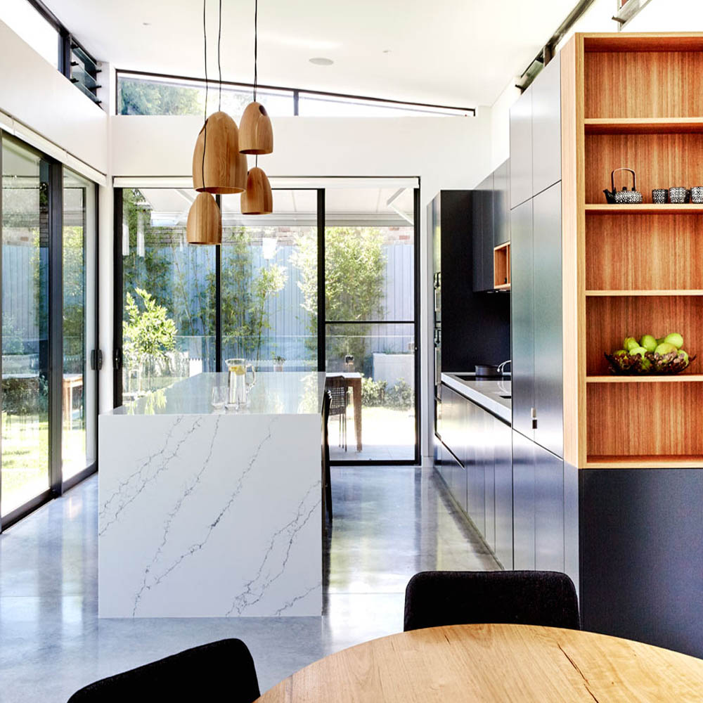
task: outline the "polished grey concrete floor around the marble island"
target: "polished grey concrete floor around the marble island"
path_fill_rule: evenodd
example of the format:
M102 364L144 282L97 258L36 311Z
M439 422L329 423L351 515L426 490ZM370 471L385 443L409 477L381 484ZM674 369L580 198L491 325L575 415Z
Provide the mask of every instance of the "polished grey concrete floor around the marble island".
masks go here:
M401 631L425 569L496 569L431 469L334 467L325 614L101 619L97 477L0 534L0 703L65 702L82 685L211 640L247 643L262 691L326 654Z

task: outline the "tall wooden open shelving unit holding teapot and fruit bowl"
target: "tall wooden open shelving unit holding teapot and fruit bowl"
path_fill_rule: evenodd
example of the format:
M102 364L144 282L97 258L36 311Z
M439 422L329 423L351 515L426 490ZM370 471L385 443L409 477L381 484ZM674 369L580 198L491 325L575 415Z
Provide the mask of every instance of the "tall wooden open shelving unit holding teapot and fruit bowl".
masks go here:
M618 167L642 205L605 202ZM702 35L577 34L562 51L562 222L565 459L579 468L703 467L703 205L652 203L653 188L697 185ZM698 355L683 373L610 375L603 353L624 337L674 331Z

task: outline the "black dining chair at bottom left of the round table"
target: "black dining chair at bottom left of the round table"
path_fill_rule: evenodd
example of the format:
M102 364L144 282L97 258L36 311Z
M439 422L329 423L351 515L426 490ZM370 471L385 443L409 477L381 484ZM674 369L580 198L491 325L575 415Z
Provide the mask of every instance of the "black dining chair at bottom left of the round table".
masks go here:
M193 647L157 662L103 678L75 692L68 703L216 701L252 703L259 693L254 660L242 640Z

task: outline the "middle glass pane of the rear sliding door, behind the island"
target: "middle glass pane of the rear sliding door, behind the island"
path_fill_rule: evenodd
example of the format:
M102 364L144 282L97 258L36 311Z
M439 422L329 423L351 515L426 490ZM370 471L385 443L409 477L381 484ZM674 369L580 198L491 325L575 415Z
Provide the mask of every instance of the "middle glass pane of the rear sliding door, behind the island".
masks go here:
M259 370L317 367L315 191L273 191L272 215L242 217L239 198L222 212L222 358Z

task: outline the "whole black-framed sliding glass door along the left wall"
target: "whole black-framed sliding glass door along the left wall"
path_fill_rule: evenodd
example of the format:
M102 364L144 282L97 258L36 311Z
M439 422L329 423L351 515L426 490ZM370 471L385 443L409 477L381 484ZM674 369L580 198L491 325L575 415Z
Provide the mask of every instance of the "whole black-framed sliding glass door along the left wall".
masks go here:
M96 464L96 186L0 134L0 526Z

